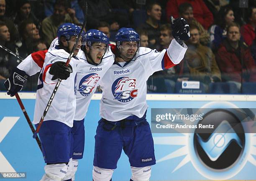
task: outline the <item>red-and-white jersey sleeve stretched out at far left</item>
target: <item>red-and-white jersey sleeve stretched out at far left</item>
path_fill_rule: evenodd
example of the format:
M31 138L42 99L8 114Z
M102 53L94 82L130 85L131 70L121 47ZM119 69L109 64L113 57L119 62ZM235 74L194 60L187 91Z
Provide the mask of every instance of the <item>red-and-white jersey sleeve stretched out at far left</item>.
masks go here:
M26 57L26 59L17 66L17 68L23 70L29 76L40 72L44 64L46 52L47 50L41 50L28 55L28 57Z

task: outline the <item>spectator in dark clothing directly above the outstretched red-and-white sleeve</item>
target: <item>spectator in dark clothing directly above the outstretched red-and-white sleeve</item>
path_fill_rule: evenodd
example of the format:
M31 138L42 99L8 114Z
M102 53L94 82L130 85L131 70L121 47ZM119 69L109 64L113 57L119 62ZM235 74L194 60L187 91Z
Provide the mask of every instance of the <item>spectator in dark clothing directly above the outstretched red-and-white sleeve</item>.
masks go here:
M24 20L19 27L20 36L22 40L22 46L19 48L19 54L21 57L27 57L34 50L40 41L39 31L36 25L31 20Z

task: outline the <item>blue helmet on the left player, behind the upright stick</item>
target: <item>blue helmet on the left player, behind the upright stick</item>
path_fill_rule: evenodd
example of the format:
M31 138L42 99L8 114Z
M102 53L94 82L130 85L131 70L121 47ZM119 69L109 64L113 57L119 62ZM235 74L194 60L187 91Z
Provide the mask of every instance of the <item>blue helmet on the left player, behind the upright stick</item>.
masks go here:
M73 23L64 23L58 27L57 37L59 38L59 41L61 36L70 40L70 37L78 36L81 29L81 27L74 25ZM84 32L82 33L82 36L84 36Z

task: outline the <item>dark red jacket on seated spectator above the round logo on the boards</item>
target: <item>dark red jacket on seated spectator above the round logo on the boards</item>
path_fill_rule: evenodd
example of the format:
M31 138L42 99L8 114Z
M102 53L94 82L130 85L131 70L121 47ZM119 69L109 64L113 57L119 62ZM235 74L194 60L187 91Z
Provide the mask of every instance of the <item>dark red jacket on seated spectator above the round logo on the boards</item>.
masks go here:
M235 50L229 45L227 40L223 41L215 55L223 81L241 82L242 64L240 52L244 52L243 81L256 82L256 66L250 49L243 44L239 46L237 50Z

